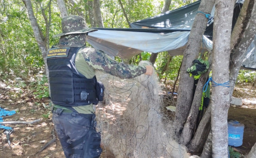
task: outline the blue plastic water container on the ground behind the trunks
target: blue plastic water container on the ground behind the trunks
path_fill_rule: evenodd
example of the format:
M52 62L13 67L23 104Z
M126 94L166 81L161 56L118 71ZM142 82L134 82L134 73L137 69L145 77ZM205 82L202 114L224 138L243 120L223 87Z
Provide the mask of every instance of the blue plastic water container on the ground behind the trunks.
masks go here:
M239 147L243 144L244 124L232 120L227 122L228 145Z

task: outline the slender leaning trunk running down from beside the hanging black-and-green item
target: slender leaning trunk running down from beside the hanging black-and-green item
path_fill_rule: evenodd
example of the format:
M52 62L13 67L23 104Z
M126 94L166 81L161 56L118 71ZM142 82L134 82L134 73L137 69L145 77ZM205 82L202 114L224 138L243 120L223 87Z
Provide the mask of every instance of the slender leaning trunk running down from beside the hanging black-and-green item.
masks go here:
M201 105L201 100L202 100L202 95L203 95L203 86L209 76L209 73L211 71L211 65L212 65L212 53L210 54L209 57L209 63L210 67L208 71L204 74L201 75L201 77L198 80L198 84L196 87L195 95L193 97L193 102L191 105L191 109L189 111L188 119L184 125L184 129L181 134L181 143L186 145L188 142L191 140L193 130L197 121L197 116L198 116L198 109L199 106Z

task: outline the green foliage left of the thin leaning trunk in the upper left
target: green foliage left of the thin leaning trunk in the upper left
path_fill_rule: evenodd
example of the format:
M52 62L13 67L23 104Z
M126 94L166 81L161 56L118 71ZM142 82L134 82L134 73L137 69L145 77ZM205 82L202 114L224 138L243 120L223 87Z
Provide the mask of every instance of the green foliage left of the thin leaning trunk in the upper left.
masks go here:
M3 0L0 10L0 74L24 77L42 67L43 58L34 39L27 11L20 1Z

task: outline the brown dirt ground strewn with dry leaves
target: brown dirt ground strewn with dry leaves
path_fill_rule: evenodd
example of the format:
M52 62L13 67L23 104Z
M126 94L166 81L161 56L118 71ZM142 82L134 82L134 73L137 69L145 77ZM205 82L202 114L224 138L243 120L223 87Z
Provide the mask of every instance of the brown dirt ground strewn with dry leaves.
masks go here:
M10 96L12 94L12 96ZM16 95L16 99L13 96ZM19 97L17 97L19 96ZM231 106L228 118L245 124L243 144L235 148L243 155L247 154L256 143L256 88L250 84L238 85L234 96L243 99L242 107ZM4 121L33 121L42 118L34 124L6 124L14 132L10 135L10 146L4 129L0 129L0 158L65 158L58 141L40 150L50 142L54 136L51 113L47 100L34 99L32 92L24 91L20 94L19 88L6 86L0 82L0 107L6 110L18 110L14 115L4 116ZM101 158L113 158L106 151Z

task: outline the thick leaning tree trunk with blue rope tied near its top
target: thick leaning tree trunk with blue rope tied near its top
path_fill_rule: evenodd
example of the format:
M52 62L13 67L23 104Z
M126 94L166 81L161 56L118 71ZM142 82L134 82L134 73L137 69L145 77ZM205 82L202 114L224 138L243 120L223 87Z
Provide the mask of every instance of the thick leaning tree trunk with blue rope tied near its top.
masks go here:
M202 0L198 11L210 13L215 0ZM188 38L187 47L184 52L183 62L181 66L181 74L179 78L179 91L176 103L176 113L174 125L177 128L175 133L177 136L181 134L183 125L188 118L188 113L191 107L193 98L193 77L189 77L187 68L192 66L192 61L198 57L200 46L202 43L203 33L206 29L208 19L204 14L196 15L190 35Z

